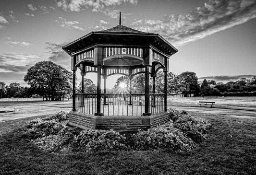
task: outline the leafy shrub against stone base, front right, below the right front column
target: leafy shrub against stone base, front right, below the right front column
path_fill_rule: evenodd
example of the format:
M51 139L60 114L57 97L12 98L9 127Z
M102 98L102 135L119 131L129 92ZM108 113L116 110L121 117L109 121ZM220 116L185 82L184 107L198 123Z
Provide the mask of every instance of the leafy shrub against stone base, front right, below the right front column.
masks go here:
M139 131L131 139L134 150L188 151L193 146L193 141L174 128L171 122L147 131Z

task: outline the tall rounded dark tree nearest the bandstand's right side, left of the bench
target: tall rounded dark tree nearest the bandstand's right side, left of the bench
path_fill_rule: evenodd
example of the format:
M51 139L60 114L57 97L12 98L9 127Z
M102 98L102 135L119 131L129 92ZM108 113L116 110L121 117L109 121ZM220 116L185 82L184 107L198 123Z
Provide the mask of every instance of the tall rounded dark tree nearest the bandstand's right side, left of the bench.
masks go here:
M195 76L195 72L186 71L177 76L179 88L185 96L191 96L192 93L194 93L194 95L199 94L200 86L197 80L198 78Z

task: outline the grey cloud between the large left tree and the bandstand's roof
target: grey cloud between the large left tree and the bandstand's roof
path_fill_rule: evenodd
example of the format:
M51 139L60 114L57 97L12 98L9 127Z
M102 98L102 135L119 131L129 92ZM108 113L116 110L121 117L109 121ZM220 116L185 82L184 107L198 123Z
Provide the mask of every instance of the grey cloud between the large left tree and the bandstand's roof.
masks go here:
M55 62L62 67L66 68L67 70L70 70L71 67L71 58L70 56L62 49L62 46L64 46L67 43L50 43L46 42L46 50L47 53L50 54L49 61Z

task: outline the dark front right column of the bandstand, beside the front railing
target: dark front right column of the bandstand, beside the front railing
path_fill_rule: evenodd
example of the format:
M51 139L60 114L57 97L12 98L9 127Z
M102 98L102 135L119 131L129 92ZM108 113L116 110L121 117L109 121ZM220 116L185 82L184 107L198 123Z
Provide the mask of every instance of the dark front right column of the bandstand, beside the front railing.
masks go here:
M151 116L149 113L149 66L145 66L145 113L143 116Z

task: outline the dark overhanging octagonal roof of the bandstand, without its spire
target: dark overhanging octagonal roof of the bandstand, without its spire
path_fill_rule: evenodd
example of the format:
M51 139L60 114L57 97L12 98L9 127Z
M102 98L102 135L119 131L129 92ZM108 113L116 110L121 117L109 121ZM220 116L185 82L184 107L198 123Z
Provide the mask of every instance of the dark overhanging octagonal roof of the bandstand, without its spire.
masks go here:
M123 25L117 25L107 30L90 32L62 48L69 55L73 55L87 47L93 47L97 44L126 45L131 47L151 45L169 57L178 51L159 34L146 33Z

